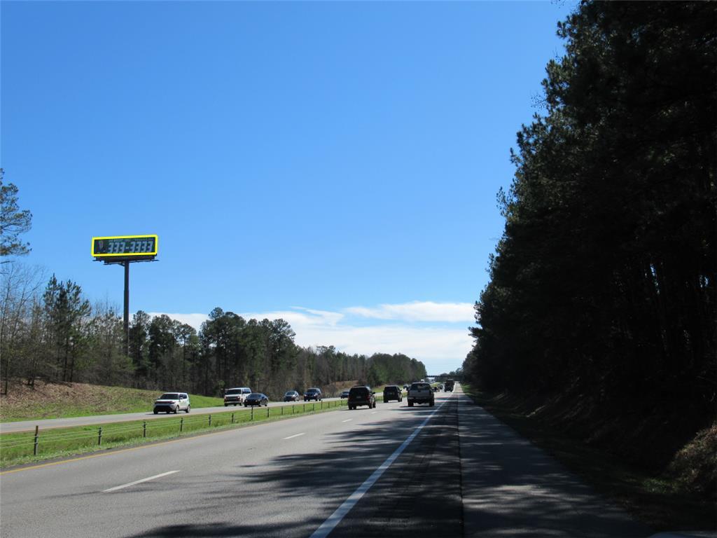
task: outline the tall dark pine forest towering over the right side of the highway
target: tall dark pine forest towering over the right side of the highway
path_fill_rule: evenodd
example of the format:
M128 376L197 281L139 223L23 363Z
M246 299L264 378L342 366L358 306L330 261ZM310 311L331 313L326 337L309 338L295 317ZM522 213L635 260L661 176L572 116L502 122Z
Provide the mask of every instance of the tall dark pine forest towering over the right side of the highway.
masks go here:
M594 435L715 420L716 32L714 2L587 1L559 24L475 305L484 390L561 395Z

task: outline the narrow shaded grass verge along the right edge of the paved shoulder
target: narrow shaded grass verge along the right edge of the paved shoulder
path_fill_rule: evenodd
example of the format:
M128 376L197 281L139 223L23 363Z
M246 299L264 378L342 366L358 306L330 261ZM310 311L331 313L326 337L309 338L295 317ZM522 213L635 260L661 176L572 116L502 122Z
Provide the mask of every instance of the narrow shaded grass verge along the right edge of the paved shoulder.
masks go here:
M655 532L715 528L715 506L707 499L678 491L674 481L668 478L655 476L529 417L518 409L516 402L500 400L465 383L461 387L491 415L551 454L600 494L630 511Z

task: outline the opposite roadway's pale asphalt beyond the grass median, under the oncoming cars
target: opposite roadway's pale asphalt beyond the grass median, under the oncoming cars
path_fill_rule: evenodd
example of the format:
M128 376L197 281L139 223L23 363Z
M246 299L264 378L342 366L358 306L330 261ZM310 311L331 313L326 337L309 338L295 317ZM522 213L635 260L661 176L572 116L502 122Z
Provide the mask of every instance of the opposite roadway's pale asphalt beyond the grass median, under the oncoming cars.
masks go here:
M324 398L324 402L333 402L341 400L341 398ZM313 402L313 400L312 400ZM278 405L301 405L304 402L269 402L269 407L276 407ZM307 404L311 402L305 402ZM318 402L317 402L318 405ZM231 410L244 409L242 405L229 405L224 407L200 407L199 409L191 408L191 415L207 415L209 413L218 413ZM170 414L171 415L171 414ZM179 415L184 415L183 411L179 412ZM107 424L107 423L121 423L129 422L130 420L153 420L156 418L163 418L168 416L167 413L161 412L155 415L150 409L148 411L138 413L118 413L116 415L94 415L90 417L71 417L71 418L48 418L44 420L23 420L15 423L0 423L0 433L16 433L16 432L29 432L34 431L35 426L39 426L40 430L50 430L53 428L70 428L71 426L88 426L92 424Z

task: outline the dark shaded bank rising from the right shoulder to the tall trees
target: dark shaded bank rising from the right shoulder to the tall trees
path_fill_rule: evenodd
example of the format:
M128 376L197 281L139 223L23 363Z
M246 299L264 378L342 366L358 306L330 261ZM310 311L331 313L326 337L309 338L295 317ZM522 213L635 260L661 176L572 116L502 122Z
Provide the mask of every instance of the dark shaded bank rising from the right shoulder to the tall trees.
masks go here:
M717 425L625 402L597 412L578 398L463 390L653 529L716 528Z

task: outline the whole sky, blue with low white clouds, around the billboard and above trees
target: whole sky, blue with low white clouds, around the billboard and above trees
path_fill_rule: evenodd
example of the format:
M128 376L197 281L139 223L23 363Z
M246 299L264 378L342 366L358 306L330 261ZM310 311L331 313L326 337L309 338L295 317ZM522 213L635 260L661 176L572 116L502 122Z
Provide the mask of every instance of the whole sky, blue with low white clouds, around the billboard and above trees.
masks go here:
M459 367L572 7L3 1L23 263L121 306L90 238L156 233L132 311L282 316L299 344Z

